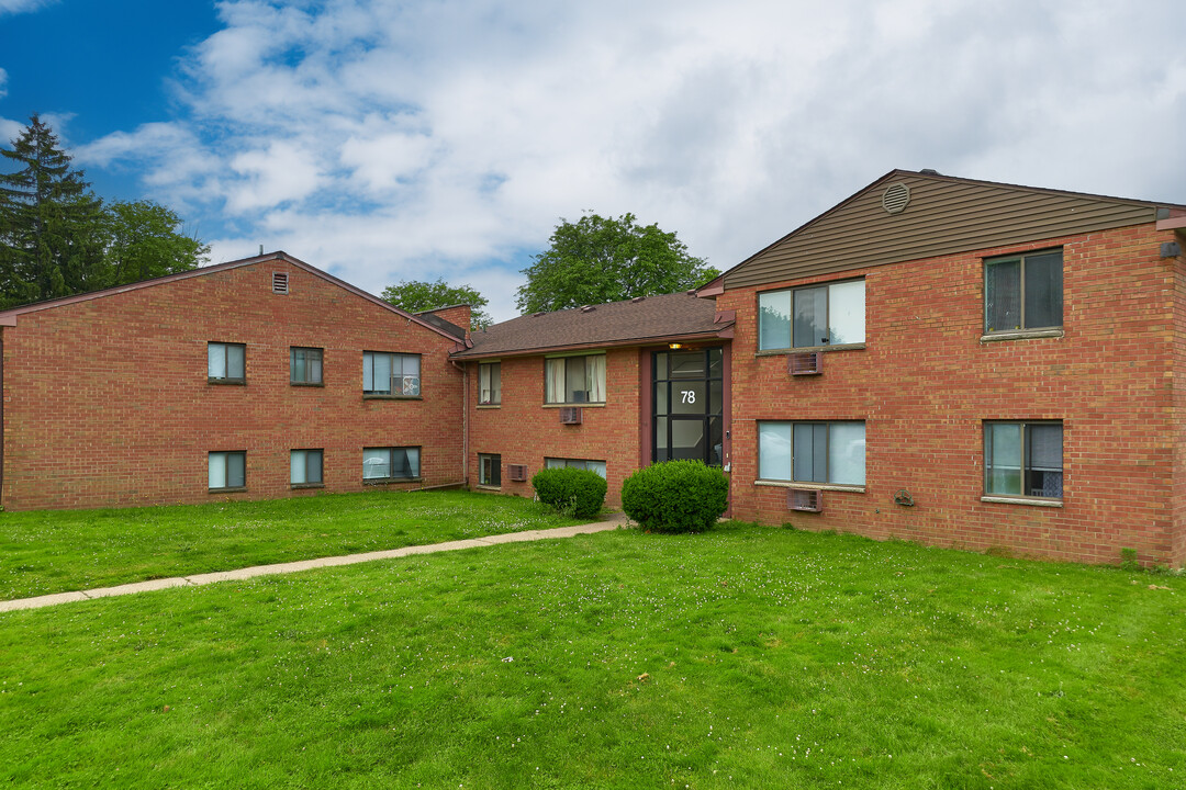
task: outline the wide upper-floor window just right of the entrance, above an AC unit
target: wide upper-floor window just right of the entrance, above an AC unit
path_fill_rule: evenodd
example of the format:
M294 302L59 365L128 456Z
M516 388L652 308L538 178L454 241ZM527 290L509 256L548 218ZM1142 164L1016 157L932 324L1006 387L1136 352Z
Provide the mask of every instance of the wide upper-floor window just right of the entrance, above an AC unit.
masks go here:
M758 348L865 342L865 281L758 294Z

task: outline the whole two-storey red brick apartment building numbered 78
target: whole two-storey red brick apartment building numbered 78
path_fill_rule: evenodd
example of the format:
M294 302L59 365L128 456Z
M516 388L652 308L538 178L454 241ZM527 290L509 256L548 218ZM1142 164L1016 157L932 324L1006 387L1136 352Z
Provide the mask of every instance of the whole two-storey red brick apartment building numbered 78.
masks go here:
M695 294L468 335L283 253L0 313L0 505L721 464L732 514L1186 561L1186 207L893 171Z

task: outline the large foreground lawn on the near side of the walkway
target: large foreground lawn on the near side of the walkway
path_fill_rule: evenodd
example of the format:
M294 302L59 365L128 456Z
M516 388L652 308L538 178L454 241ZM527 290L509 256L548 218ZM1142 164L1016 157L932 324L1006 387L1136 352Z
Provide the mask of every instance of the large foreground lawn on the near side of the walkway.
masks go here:
M731 522L12 612L0 785L1180 788L1180 584Z

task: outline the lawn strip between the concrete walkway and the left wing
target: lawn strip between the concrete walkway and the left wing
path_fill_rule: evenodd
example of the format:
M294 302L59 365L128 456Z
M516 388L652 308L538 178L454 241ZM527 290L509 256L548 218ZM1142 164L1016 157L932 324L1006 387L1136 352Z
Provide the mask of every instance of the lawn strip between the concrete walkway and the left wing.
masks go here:
M0 599L581 521L530 500L468 492L0 513Z

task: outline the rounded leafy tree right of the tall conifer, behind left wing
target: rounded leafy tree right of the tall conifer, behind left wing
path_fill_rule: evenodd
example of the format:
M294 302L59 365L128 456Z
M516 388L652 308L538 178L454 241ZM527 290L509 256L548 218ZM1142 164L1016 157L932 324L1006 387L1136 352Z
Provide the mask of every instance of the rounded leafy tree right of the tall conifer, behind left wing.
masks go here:
M107 206L107 249L111 285L196 269L210 245L178 231L181 219L152 200Z

